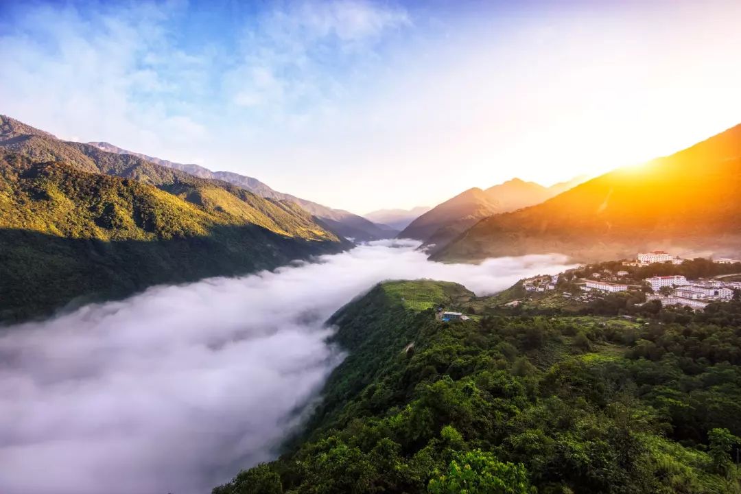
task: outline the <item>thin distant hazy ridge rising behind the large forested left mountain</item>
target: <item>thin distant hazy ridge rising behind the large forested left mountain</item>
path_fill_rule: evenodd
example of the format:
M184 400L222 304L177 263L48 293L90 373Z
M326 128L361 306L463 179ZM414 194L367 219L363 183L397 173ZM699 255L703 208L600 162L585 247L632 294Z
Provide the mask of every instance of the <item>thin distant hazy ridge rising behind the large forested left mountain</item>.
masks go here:
M350 213L349 211L335 210L330 207L322 206L322 204L317 204L313 201L307 201L306 199L291 196L290 194L280 193L268 187L267 184L262 183L257 178L239 175L239 173L212 172L211 170L208 170L207 168L201 167L197 164L176 163L174 161L155 158L153 156L147 156L141 153L134 153L133 151L124 150L107 142L89 142L87 144L95 146L109 153L138 156L139 158L143 158L147 161L160 164L164 167L182 170L197 177L227 181L230 184L245 188L253 193L256 193L258 196L262 196L265 198L295 202L296 204L299 204L299 206L307 210L309 213L313 214L313 216L316 216L319 221L322 221L322 223L324 223L327 227L329 227L337 234L346 238L353 238L355 241L370 241L379 240L381 238L393 238L393 236L396 236L396 234L399 233L400 230L393 230L385 227L384 225L374 224L372 221L368 221L362 216Z

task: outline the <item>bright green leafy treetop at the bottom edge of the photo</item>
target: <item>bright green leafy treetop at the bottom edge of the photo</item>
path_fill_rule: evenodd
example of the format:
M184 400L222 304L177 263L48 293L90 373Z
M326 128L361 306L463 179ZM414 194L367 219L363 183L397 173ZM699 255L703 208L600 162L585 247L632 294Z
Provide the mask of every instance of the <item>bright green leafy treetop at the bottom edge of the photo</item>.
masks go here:
M523 464L502 463L482 450L458 453L448 473L436 472L428 484L431 494L528 494L528 471Z

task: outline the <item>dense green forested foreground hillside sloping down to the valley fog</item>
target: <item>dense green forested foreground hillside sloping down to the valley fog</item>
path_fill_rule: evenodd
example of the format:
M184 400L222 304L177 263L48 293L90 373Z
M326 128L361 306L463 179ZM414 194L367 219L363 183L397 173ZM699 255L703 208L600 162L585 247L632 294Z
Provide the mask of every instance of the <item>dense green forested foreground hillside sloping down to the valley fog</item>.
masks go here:
M416 290L472 295L391 282L340 310L349 356L306 432L215 494L741 492L738 302L443 323Z

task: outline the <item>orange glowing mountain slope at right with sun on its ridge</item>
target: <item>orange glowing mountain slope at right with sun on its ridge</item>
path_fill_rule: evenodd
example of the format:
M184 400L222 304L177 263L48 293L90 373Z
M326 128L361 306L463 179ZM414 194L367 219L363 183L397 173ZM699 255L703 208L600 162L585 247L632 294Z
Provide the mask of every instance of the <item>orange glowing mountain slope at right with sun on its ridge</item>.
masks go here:
M672 156L594 178L542 204L480 221L441 261L563 253L579 261L660 248L741 253L741 125Z

